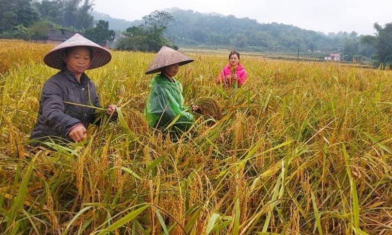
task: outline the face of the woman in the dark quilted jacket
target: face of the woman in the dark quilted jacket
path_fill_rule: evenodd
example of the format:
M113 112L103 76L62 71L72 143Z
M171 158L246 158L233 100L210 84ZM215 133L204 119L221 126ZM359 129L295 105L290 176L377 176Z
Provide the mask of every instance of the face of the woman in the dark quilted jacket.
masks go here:
M73 74L81 74L91 62L91 52L88 47L77 46L72 48L72 50L65 57L65 63L68 70Z

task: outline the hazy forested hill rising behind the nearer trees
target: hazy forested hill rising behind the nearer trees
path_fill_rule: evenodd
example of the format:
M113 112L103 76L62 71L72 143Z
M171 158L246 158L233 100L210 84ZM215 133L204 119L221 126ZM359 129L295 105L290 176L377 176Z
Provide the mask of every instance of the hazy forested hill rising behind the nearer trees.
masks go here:
M174 20L165 32L170 41L177 45L199 45L209 47L232 46L251 50L311 50L340 51L346 38L358 40L356 32L331 32L328 34L306 30L282 23L259 23L255 19L224 16L217 13L200 13L178 8L165 9ZM125 31L126 27L137 26L141 20L120 21L106 15L94 14L95 19L109 22L111 29ZM120 25L120 26L119 26ZM127 26L126 26L127 25Z

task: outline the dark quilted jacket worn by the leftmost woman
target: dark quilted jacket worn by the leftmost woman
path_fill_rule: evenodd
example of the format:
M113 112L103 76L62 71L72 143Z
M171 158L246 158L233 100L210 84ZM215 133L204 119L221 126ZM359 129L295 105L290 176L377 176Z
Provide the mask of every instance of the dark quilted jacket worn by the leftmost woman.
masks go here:
M30 139L45 141L50 136L70 141L70 128L82 123L86 128L94 121L94 109L69 103L101 107L95 84L85 73L80 78L64 69L50 77L43 85L37 122ZM32 145L38 145L33 143Z

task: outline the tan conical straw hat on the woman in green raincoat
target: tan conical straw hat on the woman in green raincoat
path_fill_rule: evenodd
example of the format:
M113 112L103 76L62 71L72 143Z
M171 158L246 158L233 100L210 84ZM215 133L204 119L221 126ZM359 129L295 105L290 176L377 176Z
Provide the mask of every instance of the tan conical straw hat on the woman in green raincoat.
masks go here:
M162 46L155 56L154 60L148 65L147 72L145 74L151 74L161 71L161 68L168 65L176 64L184 65L192 62L193 59L178 52L170 47Z

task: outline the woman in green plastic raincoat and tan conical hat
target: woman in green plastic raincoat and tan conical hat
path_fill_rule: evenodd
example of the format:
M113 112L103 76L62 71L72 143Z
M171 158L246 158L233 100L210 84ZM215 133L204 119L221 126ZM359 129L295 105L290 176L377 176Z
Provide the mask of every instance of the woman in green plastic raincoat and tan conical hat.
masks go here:
M145 74L158 73L151 79L151 91L144 108L144 115L150 127L181 133L194 123L194 117L189 111L195 112L198 107L184 106L182 85L175 78L179 67L192 61L193 59L185 54L162 46L149 64Z

